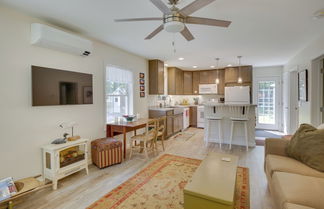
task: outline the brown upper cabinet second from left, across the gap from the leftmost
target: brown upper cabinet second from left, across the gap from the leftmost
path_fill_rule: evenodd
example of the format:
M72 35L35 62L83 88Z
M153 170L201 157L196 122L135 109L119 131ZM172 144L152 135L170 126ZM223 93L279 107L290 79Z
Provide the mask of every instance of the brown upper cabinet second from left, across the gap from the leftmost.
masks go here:
M183 71L176 67L168 68L168 94L183 95Z

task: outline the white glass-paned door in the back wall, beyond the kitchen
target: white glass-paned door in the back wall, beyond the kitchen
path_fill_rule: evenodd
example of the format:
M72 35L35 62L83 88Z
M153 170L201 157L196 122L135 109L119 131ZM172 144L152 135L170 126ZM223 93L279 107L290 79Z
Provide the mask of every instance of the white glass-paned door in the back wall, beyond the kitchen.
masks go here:
M257 128L279 130L280 77L259 77L257 83Z

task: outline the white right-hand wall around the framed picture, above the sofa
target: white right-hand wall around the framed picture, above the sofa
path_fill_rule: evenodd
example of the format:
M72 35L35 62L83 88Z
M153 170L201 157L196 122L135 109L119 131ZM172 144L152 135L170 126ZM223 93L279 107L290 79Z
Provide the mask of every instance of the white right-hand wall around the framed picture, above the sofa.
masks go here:
M324 55L324 34L312 41L303 50L298 52L285 65L284 71L297 69L301 71L309 70L309 102L300 103L299 106L299 123L312 123L318 125L319 120L319 103L320 103L320 73L319 69L312 65L313 60ZM292 86L291 88L297 88Z

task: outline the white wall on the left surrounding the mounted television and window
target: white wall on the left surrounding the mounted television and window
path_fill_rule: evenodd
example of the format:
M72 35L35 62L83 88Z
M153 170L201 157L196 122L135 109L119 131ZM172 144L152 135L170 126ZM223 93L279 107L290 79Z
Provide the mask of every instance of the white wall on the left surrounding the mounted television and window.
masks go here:
M33 22L42 23L0 7L0 179L40 174L41 146L62 136L61 122L76 121L75 133L84 138L105 136L105 64L134 72L134 111L148 114L147 98L139 98L137 85L138 73L147 72L147 60L97 41L89 57L31 46ZM93 74L94 104L32 107L31 65Z

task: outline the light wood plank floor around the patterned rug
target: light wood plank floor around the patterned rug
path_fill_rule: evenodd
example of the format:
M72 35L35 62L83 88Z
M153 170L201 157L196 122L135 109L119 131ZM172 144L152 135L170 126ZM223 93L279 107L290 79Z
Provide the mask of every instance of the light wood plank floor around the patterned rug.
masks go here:
M29 196L15 208L86 208L164 153L203 159L208 152L226 152L239 156L239 165L250 168L251 209L275 209L263 172L264 147L257 146L248 152L244 147L235 146L232 151L227 146L220 150L217 144L204 146L202 129L189 128L186 132L194 135L188 140L180 137L167 140L166 151L155 155L150 153L150 160L145 160L142 155L134 155L131 160L105 169L91 165L88 176L84 171L71 175L59 181L56 191L51 188L42 190Z

